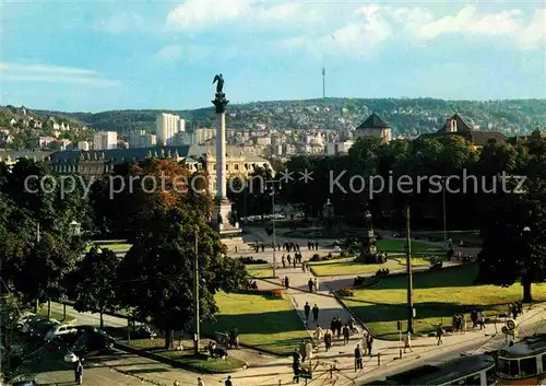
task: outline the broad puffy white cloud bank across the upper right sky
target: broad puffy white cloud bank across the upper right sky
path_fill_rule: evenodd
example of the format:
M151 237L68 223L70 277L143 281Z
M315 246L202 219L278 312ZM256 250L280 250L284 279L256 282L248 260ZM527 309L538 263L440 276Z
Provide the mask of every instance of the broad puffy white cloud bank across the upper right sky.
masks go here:
M464 5L451 14L440 13L441 10L444 8L373 3L363 7L352 2L190 0L167 15L167 27L193 37L213 28L244 36L250 31L247 40L261 44L234 40L232 48L241 55L260 47L258 50L262 52L270 48L365 57L375 55L389 40L423 46L448 34L520 49L539 48L546 42L546 10L536 11L534 16L520 9L478 12L474 5ZM274 34L257 37L260 32L278 32L284 37Z

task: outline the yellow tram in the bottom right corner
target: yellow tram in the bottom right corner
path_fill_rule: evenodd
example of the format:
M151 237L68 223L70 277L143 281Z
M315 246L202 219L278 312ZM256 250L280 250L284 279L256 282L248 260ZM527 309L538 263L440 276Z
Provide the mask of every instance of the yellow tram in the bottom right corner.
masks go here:
M546 335L526 337L499 351L499 385L546 385Z

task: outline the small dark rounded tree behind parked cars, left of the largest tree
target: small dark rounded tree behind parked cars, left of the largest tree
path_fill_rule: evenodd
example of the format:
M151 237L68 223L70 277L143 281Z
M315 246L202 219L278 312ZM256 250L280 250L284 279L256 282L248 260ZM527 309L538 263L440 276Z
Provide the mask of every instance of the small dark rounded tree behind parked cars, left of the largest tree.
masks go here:
M74 309L99 313L100 328L104 327L104 313L115 311L118 306L115 290L119 262L120 259L110 249L92 248L78 262L71 276L74 283Z

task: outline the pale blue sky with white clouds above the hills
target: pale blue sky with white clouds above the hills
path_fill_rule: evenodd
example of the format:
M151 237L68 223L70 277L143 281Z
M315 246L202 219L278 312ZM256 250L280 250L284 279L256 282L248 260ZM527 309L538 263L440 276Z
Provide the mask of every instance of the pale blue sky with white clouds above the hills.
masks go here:
M544 1L0 0L1 105L546 97Z

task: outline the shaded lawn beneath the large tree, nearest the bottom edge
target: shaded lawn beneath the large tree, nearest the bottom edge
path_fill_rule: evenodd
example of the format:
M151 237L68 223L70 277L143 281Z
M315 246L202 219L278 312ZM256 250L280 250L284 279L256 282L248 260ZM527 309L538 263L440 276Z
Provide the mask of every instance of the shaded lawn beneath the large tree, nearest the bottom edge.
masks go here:
M177 341L178 342L178 341ZM209 358L206 348L201 348L201 354L195 356L191 349L192 342L185 340L182 346L183 351L165 350L164 339L135 339L130 342L123 341L123 344L131 346L136 349L153 352L156 355L176 360L180 366L195 373L230 373L246 365L241 360L228 356L225 361L222 359Z

